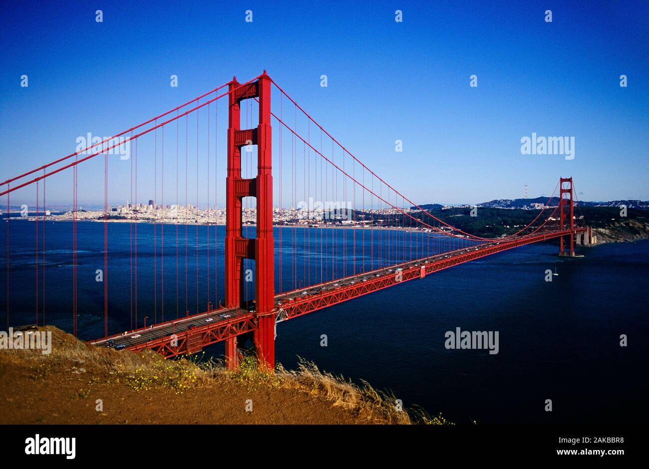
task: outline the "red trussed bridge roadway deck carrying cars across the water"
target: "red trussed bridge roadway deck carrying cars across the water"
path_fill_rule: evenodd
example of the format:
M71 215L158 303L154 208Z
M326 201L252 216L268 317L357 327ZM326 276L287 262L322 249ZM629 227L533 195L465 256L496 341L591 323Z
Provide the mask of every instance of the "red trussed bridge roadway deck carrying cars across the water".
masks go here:
M578 228L574 230L574 233L584 232L585 230L586 228ZM397 285L397 283L423 278L426 274L441 271L467 261L569 234L570 230L537 232L511 241L482 243L280 293L275 295L275 310L273 313L276 315L277 322L292 319L327 306ZM89 343L95 346L115 346L118 350L127 348L138 351L149 348L165 357L171 357L196 352L201 350L203 346L241 335L255 328L256 316L254 311L221 307L212 309L212 311L153 324L147 328L125 331L121 334L89 341Z

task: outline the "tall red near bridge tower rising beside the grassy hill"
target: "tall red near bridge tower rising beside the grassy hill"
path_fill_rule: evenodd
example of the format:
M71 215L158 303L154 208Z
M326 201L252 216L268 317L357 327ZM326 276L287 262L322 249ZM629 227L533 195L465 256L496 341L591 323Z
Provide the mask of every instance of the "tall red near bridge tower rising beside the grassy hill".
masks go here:
M254 344L260 365L275 368L275 258L273 241L273 176L271 140L271 80L263 71L258 80L239 86L236 77L228 83L228 142L225 226L225 306L243 307L243 259L254 259L257 328ZM239 87L239 88L238 88ZM259 123L241 130L241 101L257 98ZM257 176L241 178L241 147L257 145ZM241 206L243 197L256 197L257 226L254 239L243 237ZM237 339L227 339L228 368L238 366Z

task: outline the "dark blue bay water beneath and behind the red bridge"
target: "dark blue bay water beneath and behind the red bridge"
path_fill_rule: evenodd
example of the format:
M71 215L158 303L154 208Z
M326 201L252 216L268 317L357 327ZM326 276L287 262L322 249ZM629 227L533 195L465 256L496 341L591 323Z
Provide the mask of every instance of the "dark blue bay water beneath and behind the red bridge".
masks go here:
M103 336L104 285L95 282L95 271L104 267L104 226L95 222L79 222L77 226L79 337L92 339ZM5 226L1 228L0 308L4 316L6 230ZM132 228L120 223L110 223L108 228L109 332L115 333L131 329L135 322L130 263ZM139 326L145 315L149 323L156 317L162 320L163 304L165 320L183 315L186 304L194 313L197 285L199 309L204 310L207 278L210 300L223 300L223 227L210 227L209 242L207 227L199 226L198 235L195 226L187 227L188 291L184 288L185 228L178 226L177 291L177 227L164 227L163 301L162 227L155 228L156 285L154 226L138 224ZM71 223L47 222L45 230L45 320L71 331ZM276 241L280 231L282 290L304 281L304 265L308 265L313 282L330 278L332 272L339 277L343 269L345 274L352 269L358 271L363 262L358 248L355 253L350 250L352 230L328 230L322 248L319 240L324 237L320 235L316 241L315 230L276 228ZM410 246L415 248L415 255L421 250L444 250L447 246L443 243L448 243L422 234L379 235L376 230L371 234L369 231L365 230L367 268L410 256ZM251 230L247 235L252 233ZM356 244L360 245L358 232L356 236ZM387 239L398 249L387 252ZM12 325L35 320L34 242L32 222L11 222ZM333 250L332 245L336 245ZM347 247L344 253L343 245ZM431 414L441 412L458 423L645 421L649 414L649 241L582 248L580 253L585 257L575 259L559 258L556 251L552 243L520 247L283 322L277 326L276 359L292 368L299 355L323 370L354 381L365 379L377 389L389 389L408 407L421 405ZM352 254L356 254L355 263ZM380 259L373 266L369 264L371 254ZM298 259L295 264L293 258ZM324 263L317 262L320 258L325 259ZM277 273L278 267L277 261ZM552 282L545 282L546 269L556 269L559 275L553 276ZM42 321L42 293L39 295ZM1 319L4 328L5 318ZM498 331L499 353L447 350L445 332L458 327L467 331ZM328 339L326 347L321 346L323 334ZM628 335L628 347L620 347L620 334ZM206 352L221 355L223 345L210 346ZM551 413L544 411L546 399L552 400Z

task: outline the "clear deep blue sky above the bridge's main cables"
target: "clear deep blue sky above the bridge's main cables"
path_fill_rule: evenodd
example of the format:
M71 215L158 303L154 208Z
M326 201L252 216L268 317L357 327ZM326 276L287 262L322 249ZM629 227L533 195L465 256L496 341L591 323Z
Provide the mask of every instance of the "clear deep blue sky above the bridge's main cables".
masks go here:
M267 69L415 202L522 197L524 184L549 195L559 176L574 176L582 200L648 200L648 5L3 1L0 175ZM574 136L574 160L520 154L532 132Z

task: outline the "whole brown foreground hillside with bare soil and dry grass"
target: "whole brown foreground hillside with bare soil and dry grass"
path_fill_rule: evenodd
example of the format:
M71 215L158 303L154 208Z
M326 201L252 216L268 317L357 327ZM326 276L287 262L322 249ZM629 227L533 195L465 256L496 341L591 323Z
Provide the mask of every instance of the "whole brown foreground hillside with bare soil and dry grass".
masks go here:
M0 424L411 423L388 396L314 365L293 372L280 367L271 375L245 363L228 372L150 351L95 348L56 328L41 330L53 332L49 355L0 350Z

